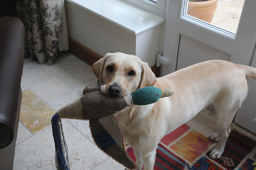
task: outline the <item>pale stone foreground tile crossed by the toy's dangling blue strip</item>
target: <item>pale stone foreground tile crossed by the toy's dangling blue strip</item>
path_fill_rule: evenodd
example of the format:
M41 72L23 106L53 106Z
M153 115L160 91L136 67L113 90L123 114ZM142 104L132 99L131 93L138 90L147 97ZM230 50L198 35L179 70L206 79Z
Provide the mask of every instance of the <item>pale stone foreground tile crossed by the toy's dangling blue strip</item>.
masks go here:
M62 119L70 169L90 169L108 158L92 141ZM14 169L56 169L51 126L16 146Z

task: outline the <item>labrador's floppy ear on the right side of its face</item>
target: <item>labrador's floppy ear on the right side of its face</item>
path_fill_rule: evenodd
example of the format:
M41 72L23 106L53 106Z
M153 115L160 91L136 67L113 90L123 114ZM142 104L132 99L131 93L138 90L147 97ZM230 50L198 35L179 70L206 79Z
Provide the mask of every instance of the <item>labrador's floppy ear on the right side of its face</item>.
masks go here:
M155 74L152 72L151 68L148 66L147 63L142 62L142 73L139 88L153 86L156 81Z

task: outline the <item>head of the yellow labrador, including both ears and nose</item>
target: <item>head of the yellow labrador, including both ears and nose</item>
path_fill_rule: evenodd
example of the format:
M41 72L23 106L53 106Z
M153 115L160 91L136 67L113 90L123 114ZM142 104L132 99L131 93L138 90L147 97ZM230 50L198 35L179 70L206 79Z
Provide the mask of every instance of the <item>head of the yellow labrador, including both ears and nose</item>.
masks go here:
M124 53L108 53L92 68L100 83L107 85L103 93L111 97L125 96L136 89L153 86L156 81L147 63Z

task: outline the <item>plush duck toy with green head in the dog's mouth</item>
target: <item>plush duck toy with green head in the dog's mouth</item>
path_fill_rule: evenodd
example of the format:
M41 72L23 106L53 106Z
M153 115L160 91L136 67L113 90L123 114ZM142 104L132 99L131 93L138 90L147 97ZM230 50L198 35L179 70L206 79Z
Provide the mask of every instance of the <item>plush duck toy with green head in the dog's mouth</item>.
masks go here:
M124 166L136 168L136 163L125 150L121 126L111 115L133 104L152 104L161 97L174 94L170 89L158 89L149 86L135 90L124 97L112 98L103 94L100 91L101 88L106 88L106 85L101 87L87 86L87 94L62 107L52 117L57 169L69 169L67 146L60 118L90 120L92 137L97 146Z

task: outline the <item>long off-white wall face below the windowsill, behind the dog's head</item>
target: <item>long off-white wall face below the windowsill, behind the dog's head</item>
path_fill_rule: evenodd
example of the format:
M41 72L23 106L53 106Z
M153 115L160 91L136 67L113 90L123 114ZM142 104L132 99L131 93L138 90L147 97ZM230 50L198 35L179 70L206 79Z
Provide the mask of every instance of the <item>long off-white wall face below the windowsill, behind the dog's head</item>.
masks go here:
M135 55L135 35L101 17L65 2L68 36L101 56L123 52Z

